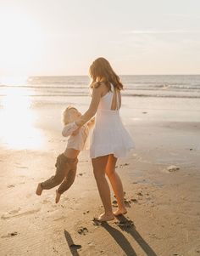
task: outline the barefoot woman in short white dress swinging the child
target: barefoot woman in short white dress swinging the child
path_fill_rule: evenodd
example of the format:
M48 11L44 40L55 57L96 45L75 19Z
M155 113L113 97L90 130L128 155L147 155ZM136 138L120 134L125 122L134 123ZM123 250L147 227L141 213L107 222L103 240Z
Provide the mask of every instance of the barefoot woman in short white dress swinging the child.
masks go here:
M123 85L108 60L104 58L95 60L90 66L90 75L92 101L86 113L75 123L81 127L97 113L90 155L97 188L105 210L97 220L108 221L114 219L114 215L126 213L123 186L119 175L115 172L115 165L118 157L125 156L126 152L133 148L133 141L119 117L120 90L123 89ZM114 213L105 174L108 176L118 202L118 209Z

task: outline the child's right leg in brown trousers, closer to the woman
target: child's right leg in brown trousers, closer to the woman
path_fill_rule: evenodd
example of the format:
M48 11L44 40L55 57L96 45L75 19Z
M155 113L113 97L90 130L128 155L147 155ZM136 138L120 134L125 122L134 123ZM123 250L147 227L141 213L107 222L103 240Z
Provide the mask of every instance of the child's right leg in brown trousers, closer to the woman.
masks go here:
M58 187L58 191L56 191L56 202L59 201L60 196L64 193L64 191L68 191L69 187L74 183L75 181L75 174L77 169L77 162L73 164L69 164L69 171L67 171L66 177L64 178L61 185Z

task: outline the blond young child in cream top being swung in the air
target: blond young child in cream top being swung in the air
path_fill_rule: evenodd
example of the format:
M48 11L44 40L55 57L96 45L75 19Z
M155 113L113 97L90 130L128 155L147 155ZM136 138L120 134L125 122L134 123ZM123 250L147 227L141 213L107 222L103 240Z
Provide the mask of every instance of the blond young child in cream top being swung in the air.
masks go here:
M60 196L64 191L69 190L69 187L75 181L76 168L78 163L77 156L84 149L86 138L89 134L89 128L92 127L94 120L87 122L85 126L79 128L75 121L81 117L81 113L73 106L68 106L63 113L64 128L62 134L68 137L67 148L64 153L57 157L56 174L50 179L39 183L36 189L36 195L41 196L43 190L50 190L56 185L59 185L56 191L55 202L58 203Z

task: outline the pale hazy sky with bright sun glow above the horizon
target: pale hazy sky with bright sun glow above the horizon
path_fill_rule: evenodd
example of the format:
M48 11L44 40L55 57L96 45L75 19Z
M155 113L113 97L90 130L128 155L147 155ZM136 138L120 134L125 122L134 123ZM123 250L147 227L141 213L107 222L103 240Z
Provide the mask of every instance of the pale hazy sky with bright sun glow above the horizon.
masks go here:
M0 76L200 74L199 0L0 0Z

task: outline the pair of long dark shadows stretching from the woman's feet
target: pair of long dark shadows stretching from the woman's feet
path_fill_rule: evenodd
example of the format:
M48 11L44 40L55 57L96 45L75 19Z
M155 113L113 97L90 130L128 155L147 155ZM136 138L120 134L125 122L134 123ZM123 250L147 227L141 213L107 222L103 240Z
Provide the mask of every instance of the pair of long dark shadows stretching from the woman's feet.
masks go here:
M119 228L129 233L142 247L142 250L147 254L147 256L157 256L153 249L137 232L135 225L133 225L133 222L130 219L126 219L125 216L119 216L117 217L117 219L119 219ZM122 248L126 255L136 256L136 252L133 247L131 247L130 242L119 230L114 229L114 227L108 225L108 223L103 223L102 226L105 228L105 230L108 231L111 236L114 237L114 240L119 244L119 246Z

